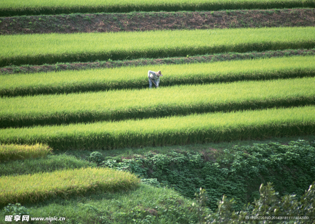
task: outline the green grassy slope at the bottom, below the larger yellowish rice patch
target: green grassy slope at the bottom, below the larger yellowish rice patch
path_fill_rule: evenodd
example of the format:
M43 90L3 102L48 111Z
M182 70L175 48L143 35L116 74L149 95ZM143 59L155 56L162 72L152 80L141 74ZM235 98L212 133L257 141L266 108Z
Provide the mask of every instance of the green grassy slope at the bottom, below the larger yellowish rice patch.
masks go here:
M69 199L55 198L38 203L37 207L26 204L30 217L65 217L67 223L144 223L191 224L198 222L193 201L168 188L140 185L134 191L119 193L85 194ZM5 217L0 210L1 217ZM0 220L0 223L4 218ZM43 221L34 221L34 224ZM64 221L63 221L64 223Z

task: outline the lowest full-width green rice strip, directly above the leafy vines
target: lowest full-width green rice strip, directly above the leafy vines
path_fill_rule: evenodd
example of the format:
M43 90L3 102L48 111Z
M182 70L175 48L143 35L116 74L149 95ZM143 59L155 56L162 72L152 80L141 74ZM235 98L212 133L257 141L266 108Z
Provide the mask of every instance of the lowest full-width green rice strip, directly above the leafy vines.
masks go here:
M315 134L315 106L0 129L0 142L112 149Z

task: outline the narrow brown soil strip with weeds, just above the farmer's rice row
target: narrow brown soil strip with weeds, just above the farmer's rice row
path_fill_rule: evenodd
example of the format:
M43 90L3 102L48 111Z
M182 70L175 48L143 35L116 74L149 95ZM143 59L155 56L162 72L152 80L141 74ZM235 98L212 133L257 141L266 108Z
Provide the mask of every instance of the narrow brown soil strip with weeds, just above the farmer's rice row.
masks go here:
M277 50L263 52L248 52L248 53L227 53L216 55L203 55L193 57L176 57L176 58L161 58L161 59L137 59L126 61L103 61L103 62L88 62L88 63L66 63L40 66L13 66L0 68L0 75L18 74L18 73L36 73L36 72L57 72L64 70L84 70L93 68L117 68L122 66L144 66L144 65L162 65L162 64L184 64L198 62L218 62L227 60L245 60L254 58L271 58L294 55L315 55L315 49L311 50Z

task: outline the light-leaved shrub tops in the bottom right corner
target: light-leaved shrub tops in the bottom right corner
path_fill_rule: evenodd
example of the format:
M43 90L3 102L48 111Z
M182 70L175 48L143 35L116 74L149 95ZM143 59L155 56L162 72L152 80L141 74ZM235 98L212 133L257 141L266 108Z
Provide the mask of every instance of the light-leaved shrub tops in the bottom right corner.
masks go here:
M315 181L307 191L296 199L295 195L278 196L270 182L266 186L260 186L260 198L253 205L247 205L241 211L233 211L233 199L225 196L218 202L215 213L203 215L199 224L239 224L239 223L314 223L315 222ZM203 210L204 201L207 200L207 192L200 191L197 195L196 206ZM268 217L268 218L267 218Z

